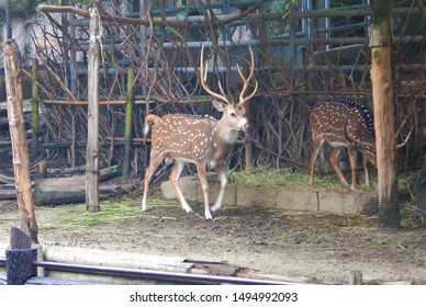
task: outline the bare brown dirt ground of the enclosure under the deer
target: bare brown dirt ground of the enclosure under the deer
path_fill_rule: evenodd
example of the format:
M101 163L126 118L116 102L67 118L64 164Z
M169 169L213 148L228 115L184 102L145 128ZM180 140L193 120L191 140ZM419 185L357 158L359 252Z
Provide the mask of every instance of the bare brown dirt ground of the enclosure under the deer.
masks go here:
M87 227L60 227L77 220L83 205L37 207L38 239L45 246L226 261L304 282L347 284L358 270L370 284L426 284L426 228L380 229L375 217L261 207L225 207L205 221L200 204L189 215L176 201L150 200L144 214L141 193L114 200L132 208L128 216ZM11 226L19 226L16 204L2 202L0 242L9 241Z

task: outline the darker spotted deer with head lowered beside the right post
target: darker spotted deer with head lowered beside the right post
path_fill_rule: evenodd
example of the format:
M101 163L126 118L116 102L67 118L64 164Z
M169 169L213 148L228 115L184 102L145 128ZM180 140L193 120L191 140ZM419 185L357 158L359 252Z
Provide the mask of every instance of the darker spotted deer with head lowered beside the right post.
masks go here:
M372 116L366 106L346 100L326 101L312 110L310 126L314 141L311 157L311 185L314 182L315 160L325 143L332 147L328 159L344 185L349 184L337 163L337 155L344 148L348 150L352 175L350 189L355 190L356 185L356 151L362 152L366 184L370 184L367 163L370 161L375 166L375 136Z

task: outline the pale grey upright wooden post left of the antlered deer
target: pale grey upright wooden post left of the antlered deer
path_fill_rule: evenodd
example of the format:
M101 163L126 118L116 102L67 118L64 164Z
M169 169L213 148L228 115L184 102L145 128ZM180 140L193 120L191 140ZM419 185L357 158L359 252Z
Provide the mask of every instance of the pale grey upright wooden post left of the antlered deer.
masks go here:
M99 2L93 1L90 12L90 45L88 55L88 139L86 151L86 208L99 212Z

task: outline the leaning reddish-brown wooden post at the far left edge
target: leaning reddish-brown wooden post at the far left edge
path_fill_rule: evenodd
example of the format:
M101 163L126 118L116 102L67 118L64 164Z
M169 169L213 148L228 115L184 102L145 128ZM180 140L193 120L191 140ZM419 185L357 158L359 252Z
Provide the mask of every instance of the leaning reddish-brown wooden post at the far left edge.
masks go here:
M8 100L9 130L12 139L13 170L21 230L38 242L34 200L31 191L29 145L22 106L21 55L15 42L1 43L4 53L4 78Z

